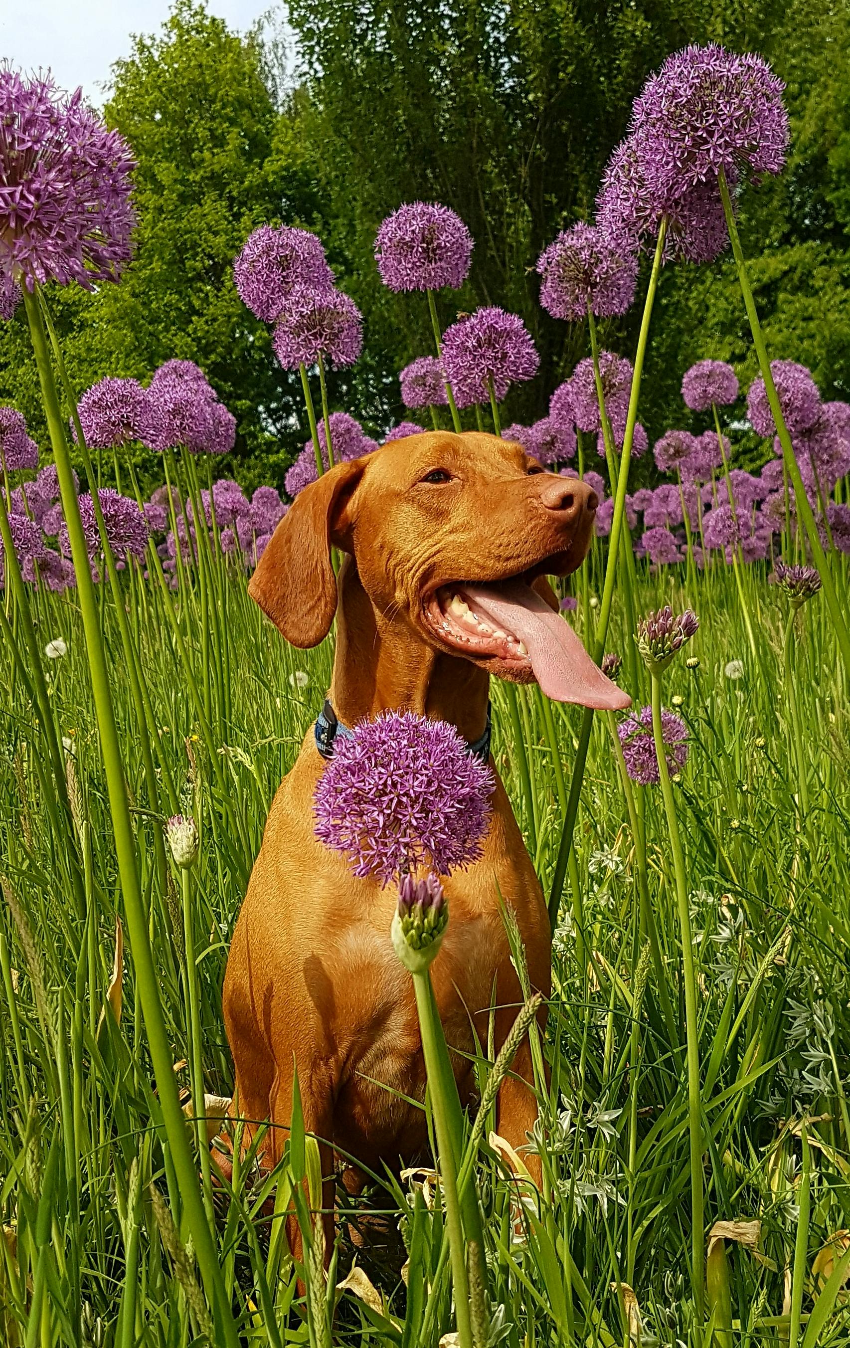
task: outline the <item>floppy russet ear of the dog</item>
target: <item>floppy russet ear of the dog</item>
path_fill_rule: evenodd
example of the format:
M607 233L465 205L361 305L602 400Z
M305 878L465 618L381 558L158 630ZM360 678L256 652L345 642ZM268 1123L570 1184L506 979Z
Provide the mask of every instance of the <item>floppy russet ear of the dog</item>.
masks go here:
M346 506L362 461L337 464L295 497L272 534L248 593L287 642L306 650L327 636L337 612L331 543L345 535Z

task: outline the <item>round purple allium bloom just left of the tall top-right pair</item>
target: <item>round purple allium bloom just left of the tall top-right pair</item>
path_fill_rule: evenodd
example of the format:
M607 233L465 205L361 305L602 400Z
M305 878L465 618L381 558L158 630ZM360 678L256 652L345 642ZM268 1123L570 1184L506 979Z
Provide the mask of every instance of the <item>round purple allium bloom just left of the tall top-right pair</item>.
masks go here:
M634 299L637 251L624 235L598 225L573 225L540 253L540 303L552 318L581 322L625 314Z

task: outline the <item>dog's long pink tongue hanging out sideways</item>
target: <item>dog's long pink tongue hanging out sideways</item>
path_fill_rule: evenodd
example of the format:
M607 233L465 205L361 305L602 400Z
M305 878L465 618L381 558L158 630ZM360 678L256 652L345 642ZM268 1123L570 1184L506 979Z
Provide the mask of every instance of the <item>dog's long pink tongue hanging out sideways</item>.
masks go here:
M632 698L593 663L570 624L524 581L505 581L498 589L465 585L463 593L476 609L525 642L547 697L610 710L632 705Z

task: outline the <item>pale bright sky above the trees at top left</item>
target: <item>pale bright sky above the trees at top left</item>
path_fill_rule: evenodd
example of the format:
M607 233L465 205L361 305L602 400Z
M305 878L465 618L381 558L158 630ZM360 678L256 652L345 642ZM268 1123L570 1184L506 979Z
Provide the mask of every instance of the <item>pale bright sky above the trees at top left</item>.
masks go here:
M244 31L271 0L209 0L207 8ZM170 0L0 0L0 59L23 70L53 70L63 89L82 85L104 101L102 85L119 57L128 57L133 32L155 32Z

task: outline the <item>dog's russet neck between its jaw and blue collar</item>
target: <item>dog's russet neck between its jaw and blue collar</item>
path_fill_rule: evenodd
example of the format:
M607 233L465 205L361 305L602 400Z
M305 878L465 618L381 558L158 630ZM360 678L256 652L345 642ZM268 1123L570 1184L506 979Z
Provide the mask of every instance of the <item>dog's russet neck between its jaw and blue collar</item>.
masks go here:
M405 613L379 613L350 558L338 585L330 702L342 724L380 712L418 712L477 740L486 724L489 675L470 661L432 650Z

